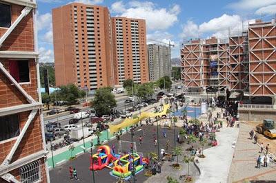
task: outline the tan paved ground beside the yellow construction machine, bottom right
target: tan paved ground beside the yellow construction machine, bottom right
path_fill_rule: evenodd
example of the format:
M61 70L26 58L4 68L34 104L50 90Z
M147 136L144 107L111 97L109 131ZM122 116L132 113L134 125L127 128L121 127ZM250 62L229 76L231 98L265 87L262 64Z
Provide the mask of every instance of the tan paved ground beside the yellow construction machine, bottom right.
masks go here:
M276 180L276 164L268 162L268 167L261 166L261 169L255 168L257 165L257 156L264 156L259 153L260 148L253 140L249 138L250 125L241 123L239 137L235 148L233 162L228 176L228 182L244 182L250 180ZM264 144L266 146L266 144Z

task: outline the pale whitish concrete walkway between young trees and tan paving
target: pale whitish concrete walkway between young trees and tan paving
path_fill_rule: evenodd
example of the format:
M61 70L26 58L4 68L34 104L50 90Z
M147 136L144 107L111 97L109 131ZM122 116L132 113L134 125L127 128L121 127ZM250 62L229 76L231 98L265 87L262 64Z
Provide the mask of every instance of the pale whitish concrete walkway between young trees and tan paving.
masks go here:
M206 149L206 158L199 158L201 175L197 182L227 182L227 176L233 158L232 144L237 140L238 128L224 127L217 132L218 146Z

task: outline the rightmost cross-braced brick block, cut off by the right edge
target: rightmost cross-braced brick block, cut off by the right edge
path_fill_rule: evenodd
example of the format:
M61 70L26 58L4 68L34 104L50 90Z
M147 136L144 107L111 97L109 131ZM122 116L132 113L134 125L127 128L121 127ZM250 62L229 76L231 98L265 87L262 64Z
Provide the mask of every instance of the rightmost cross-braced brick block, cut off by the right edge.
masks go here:
M276 95L276 23L260 20L248 26L250 96Z

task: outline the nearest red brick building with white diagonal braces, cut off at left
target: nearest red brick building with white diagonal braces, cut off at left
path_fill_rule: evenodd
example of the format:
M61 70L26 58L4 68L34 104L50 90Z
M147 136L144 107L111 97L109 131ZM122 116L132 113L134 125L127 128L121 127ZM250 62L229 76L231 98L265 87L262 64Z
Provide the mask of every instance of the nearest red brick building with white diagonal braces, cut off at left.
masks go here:
M35 1L0 0L0 182L50 182Z

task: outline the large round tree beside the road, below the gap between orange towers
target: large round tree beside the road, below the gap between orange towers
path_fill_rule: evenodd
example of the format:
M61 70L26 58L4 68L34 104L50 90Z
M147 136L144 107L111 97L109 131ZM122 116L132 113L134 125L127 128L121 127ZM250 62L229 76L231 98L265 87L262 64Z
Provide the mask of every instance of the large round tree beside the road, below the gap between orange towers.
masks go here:
M117 106L115 96L107 87L96 90L95 98L90 105L95 109L97 116L111 114L111 109Z

